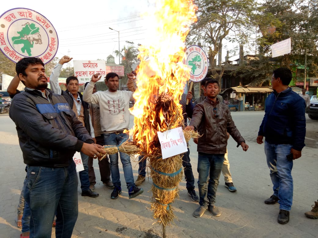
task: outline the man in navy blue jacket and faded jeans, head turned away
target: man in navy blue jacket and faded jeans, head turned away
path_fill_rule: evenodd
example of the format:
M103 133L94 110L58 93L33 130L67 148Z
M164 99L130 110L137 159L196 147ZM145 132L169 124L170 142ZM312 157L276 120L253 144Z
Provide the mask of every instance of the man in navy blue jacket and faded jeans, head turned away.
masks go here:
M281 224L289 221L293 203L293 160L301 157L306 135L306 103L288 87L291 80L290 69L273 71L274 92L266 99L265 116L256 139L262 144L265 136L265 155L273 183L273 195L264 202L280 204L278 222Z

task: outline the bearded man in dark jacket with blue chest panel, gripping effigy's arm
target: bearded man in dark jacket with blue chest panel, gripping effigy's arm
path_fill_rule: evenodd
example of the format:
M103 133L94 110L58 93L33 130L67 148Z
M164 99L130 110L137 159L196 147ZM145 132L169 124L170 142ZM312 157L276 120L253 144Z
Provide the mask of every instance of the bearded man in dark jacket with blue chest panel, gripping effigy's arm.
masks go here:
M47 89L44 64L23 58L16 65L25 92L17 94L9 116L15 122L27 164L25 201L30 206L30 237L71 237L78 215L77 174L73 155L105 154L75 117L63 96Z

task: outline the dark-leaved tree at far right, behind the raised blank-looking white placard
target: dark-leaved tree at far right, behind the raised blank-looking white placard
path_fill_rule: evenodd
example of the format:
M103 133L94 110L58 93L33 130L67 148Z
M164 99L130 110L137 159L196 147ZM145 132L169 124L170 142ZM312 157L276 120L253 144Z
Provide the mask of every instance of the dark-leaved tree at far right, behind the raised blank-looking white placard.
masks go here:
M259 39L260 57L244 66L234 74L253 79L251 85L268 85L272 70L277 67L290 68L291 65L304 65L307 48L307 67L309 77L318 75L318 17L315 14L317 3L308 5L301 0L268 0L263 4L263 13L272 14L279 21L274 24L275 32L261 30ZM271 45L291 38L291 53L271 58ZM303 77L303 75L302 75ZM300 80L303 82L303 79Z

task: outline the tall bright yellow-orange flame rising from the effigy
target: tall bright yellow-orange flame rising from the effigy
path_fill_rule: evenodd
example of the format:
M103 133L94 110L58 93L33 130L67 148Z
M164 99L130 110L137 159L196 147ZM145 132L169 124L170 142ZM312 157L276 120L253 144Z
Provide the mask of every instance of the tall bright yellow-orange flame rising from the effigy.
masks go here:
M135 105L130 109L135 119L134 127L129 131L135 141L146 145L148 153L157 131L179 125L179 122L169 124L169 119L172 114L182 113L179 101L190 78L190 69L182 63L184 41L190 24L197 20L196 9L189 0L157 0L154 11L148 14L151 45L139 47L141 63L136 79ZM150 60L146 61L148 58ZM158 100L162 102L161 108L156 108ZM174 102L177 107L173 108L169 102ZM182 120L180 117L180 122Z

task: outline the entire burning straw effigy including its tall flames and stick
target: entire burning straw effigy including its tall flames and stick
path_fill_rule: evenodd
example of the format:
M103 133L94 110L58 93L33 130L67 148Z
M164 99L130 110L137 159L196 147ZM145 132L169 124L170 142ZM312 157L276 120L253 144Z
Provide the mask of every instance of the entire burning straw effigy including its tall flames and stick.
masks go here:
M148 158L153 181L151 211L154 218L165 226L174 215L173 202L178 197L178 184L183 178L182 155L162 159L157 132L183 126L179 101L190 79L190 69L184 63L185 38L190 25L197 19L196 6L191 0L156 0L142 17L148 18L149 45L138 47L140 60L134 92L135 104L130 112L135 116L129 130L132 142L104 150L141 154ZM148 59L148 60L147 60ZM193 131L183 131L186 141L197 137ZM183 139L182 139L183 140ZM128 149L128 146L131 148ZM139 151L137 153L137 151Z

